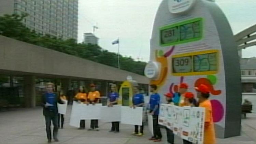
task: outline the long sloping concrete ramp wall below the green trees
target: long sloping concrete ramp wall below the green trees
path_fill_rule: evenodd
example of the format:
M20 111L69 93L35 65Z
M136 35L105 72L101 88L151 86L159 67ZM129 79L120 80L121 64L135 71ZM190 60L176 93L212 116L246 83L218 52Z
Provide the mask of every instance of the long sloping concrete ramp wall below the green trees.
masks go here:
M3 36L0 36L1 72L108 81L125 81L131 75L139 83L148 83L145 76Z

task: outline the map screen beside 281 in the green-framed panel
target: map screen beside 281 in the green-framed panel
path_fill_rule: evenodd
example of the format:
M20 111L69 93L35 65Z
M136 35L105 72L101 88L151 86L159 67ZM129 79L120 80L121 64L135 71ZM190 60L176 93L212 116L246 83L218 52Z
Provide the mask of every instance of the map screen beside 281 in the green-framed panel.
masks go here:
M180 40L189 40L202 37L201 21L195 21L193 23L180 26Z

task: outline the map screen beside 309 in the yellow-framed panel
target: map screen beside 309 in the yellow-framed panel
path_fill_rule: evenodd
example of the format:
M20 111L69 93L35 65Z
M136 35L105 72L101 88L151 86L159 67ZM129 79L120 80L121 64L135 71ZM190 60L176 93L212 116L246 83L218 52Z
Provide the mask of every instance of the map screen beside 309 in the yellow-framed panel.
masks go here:
M217 53L195 55L194 71L217 71Z

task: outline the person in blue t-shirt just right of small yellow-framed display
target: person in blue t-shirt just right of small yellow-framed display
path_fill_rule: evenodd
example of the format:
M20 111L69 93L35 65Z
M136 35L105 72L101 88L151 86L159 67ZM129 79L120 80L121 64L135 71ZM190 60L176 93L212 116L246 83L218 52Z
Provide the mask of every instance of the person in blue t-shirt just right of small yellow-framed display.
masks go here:
M137 106L143 107L144 106L144 96L140 93L139 87L134 86L133 91L134 91L135 95L132 97L132 106L131 107L133 107L133 109L135 109ZM142 123L142 126L140 126L140 132L138 131L138 128L139 128L138 125L134 126L134 132L132 134L136 135L136 136L142 136L143 128L144 128L143 123Z

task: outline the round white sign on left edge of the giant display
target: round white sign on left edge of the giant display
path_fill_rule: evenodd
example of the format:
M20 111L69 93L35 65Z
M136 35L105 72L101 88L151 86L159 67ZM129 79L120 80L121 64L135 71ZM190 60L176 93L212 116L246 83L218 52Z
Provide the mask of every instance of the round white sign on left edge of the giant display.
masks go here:
M157 62L150 61L147 63L144 74L148 78L157 78L159 74L159 67Z

